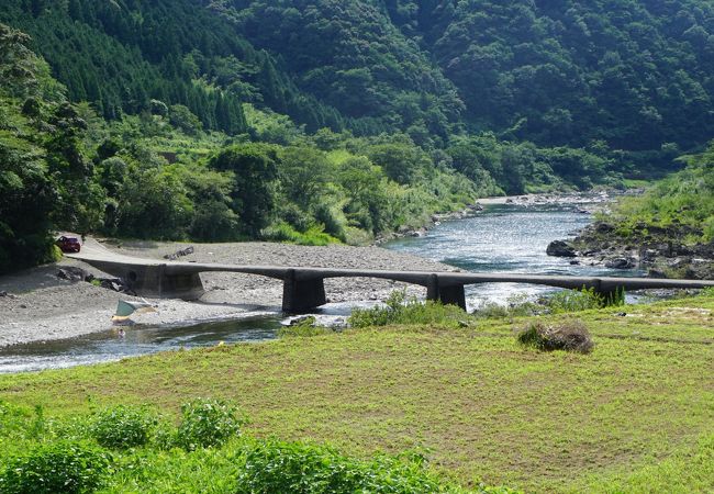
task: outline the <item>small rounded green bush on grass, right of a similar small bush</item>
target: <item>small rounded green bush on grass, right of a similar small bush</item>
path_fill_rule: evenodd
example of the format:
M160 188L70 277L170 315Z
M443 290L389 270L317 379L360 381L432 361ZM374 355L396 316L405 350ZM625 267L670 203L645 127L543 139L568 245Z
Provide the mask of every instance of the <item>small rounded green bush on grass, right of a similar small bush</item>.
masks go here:
M188 451L221 446L246 423L235 406L220 400L193 400L181 406L181 415L176 442Z

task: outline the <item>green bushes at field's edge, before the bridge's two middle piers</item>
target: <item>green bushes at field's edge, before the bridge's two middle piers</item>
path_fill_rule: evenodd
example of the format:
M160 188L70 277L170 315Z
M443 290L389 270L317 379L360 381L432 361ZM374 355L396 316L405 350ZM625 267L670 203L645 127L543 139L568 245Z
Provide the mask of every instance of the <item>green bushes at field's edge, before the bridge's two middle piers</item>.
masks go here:
M388 326L394 324L439 324L458 326L467 324L466 312L456 305L444 305L440 302L424 303L406 299L404 291L394 291L384 301L384 305L372 308L354 308L348 324L355 328Z

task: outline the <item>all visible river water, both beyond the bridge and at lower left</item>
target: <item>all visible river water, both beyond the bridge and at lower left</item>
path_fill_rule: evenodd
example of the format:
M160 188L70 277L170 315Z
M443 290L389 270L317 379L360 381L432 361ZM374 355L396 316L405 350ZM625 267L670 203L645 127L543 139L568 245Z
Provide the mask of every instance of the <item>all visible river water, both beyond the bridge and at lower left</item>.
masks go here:
M545 254L551 240L571 236L590 221L590 215L568 205L487 205L473 217L446 221L424 237L402 238L384 247L468 271L627 276L602 267L572 266L569 259ZM551 291L512 283L472 285L467 287L467 305L476 308L489 302L505 303L514 294L538 296ZM321 315L345 317L349 310L348 304L328 304L321 310ZM127 328L123 335L112 329L80 338L14 346L0 349L0 372L97 363L164 350L215 346L221 341L263 341L276 337L282 317L279 313L250 313L230 322L186 327L137 326Z

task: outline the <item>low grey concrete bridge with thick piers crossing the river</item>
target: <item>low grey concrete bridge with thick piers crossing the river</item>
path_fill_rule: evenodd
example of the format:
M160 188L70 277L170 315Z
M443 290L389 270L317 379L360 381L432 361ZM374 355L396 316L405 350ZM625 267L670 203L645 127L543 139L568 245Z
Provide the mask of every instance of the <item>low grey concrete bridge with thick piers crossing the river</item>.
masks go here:
M564 289L593 289L612 296L617 290L701 289L714 287L714 281L668 280L654 278L587 278L514 273L388 271L369 269L304 268L285 266L236 266L199 262L160 261L111 252L103 248L85 248L68 257L82 260L94 268L124 279L138 294L156 297L199 299L204 290L199 273L226 271L257 274L282 280L282 310L305 312L327 302L326 278L381 278L426 288L428 300L466 308L464 287L477 283L529 283Z

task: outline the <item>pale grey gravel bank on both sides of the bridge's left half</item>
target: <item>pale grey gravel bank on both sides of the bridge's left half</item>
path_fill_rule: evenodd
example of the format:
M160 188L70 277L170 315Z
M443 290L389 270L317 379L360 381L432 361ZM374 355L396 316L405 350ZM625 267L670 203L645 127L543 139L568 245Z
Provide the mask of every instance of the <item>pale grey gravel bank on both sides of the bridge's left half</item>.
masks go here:
M94 240L88 240L94 242ZM189 244L104 243L124 255L163 258ZM448 270L444 265L379 247L304 247L269 243L190 244L194 254L181 260L241 265L313 266L369 269ZM60 339L112 327L111 316L120 299L132 300L87 282L57 278L59 267L77 266L94 276L105 274L88 265L63 259L13 276L0 277L0 346L34 340ZM269 278L239 273L203 273L205 295L198 302L149 300L154 314L142 314L136 322L146 325L175 325L216 318L238 317L257 307L279 310L282 283ZM406 287L423 295L424 289L372 279L325 280L332 302L383 300L391 291Z

